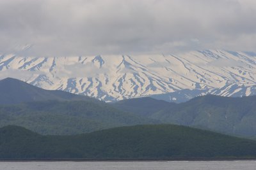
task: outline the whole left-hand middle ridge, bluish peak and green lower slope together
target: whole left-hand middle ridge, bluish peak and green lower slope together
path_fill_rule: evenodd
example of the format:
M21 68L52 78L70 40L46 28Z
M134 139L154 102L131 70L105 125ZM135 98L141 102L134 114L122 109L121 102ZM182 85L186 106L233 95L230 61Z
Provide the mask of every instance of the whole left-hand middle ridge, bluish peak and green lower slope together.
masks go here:
M20 125L40 134L79 134L158 121L118 110L111 104L24 81L0 81L0 127Z

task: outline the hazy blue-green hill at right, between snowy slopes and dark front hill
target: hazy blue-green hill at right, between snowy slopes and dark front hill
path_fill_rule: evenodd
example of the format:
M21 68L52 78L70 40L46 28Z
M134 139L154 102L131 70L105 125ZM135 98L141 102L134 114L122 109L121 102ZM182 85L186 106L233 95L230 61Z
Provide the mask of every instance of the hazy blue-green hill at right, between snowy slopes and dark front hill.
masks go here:
M147 101L142 97L120 101L113 106L165 124L198 127L246 138L256 137L256 96L207 95L180 104L166 104L156 99Z

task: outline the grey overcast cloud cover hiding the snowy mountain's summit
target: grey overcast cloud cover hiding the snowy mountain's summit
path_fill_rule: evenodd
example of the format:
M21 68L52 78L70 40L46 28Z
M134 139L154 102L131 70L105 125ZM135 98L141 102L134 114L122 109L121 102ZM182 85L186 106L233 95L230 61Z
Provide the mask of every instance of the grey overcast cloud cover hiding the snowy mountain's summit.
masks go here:
M255 0L1 0L0 53L256 51Z

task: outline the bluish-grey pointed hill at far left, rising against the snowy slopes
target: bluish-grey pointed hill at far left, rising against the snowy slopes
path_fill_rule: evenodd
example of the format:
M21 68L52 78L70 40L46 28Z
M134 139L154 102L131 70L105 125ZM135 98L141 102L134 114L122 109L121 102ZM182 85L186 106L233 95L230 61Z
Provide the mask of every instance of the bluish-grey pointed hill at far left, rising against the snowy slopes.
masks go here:
M17 104L47 100L90 101L94 99L63 92L61 90L40 89L15 78L5 78L4 80L0 80L0 104Z

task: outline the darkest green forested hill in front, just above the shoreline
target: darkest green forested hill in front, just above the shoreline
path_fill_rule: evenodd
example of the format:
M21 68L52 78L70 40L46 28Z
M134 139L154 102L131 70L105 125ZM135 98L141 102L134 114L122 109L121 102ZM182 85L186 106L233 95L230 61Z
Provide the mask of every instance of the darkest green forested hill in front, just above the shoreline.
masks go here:
M256 141L179 125L136 125L42 136L22 127L0 129L0 159L244 159Z

